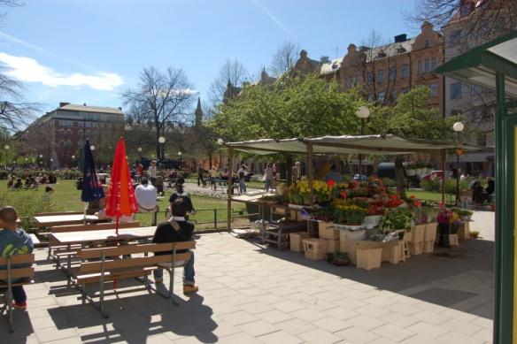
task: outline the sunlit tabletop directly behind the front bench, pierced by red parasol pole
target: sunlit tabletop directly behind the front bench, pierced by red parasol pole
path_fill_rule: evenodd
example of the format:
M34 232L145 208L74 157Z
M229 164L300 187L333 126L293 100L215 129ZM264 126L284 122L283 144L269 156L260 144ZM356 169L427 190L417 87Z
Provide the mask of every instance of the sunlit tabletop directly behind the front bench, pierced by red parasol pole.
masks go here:
M120 228L119 236L120 240L138 240L152 238L156 232L156 226L149 227L134 227L134 228ZM114 229L101 229L94 231L85 232L62 232L62 233L50 233L52 242L57 245L71 245L71 244L83 244L89 242L104 242L110 239L116 240ZM113 238L110 238L113 237Z

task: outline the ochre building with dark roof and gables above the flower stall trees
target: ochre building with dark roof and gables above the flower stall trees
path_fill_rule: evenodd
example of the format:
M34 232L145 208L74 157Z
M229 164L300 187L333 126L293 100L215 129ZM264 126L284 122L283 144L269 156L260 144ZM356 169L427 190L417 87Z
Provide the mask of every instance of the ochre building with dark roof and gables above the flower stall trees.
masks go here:
M320 74L336 78L343 89L361 85L370 101L393 104L410 88L430 89L431 105L443 107L442 77L434 73L443 61L443 37L424 22L421 33L408 39L398 34L394 42L377 47L350 44L343 57L322 57Z

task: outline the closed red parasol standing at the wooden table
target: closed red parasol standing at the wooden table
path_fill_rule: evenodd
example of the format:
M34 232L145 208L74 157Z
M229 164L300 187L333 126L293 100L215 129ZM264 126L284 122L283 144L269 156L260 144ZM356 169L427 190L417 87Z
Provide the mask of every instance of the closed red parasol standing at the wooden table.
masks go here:
M106 215L117 218L116 233L118 234L120 216L131 216L137 211L133 180L126 160L126 144L124 138L120 137L113 157L112 181L106 198Z

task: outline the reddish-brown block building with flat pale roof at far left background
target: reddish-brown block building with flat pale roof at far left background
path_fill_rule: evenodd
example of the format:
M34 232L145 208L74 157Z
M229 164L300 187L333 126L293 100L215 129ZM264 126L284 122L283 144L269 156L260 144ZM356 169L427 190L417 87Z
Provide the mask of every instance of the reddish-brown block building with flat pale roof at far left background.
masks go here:
M59 103L19 135L27 154L35 155L44 167L75 165L75 155L86 139L101 144L104 139L118 138L124 132L121 108Z

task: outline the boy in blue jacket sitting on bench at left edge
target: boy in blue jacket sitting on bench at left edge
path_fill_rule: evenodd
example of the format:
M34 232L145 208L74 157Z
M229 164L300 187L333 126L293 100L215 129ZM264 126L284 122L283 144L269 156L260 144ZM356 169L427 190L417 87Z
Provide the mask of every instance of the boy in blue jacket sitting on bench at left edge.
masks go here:
M31 253L35 248L30 236L23 229L16 227L17 219L18 213L13 207L4 206L0 208L0 227L3 228L0 231L0 255L4 258L25 255ZM0 269L5 270L6 267L2 266ZM17 281L13 280L12 282L16 283ZM23 286L13 286L12 297L14 298L12 307L20 310L27 309L27 294L25 294Z

